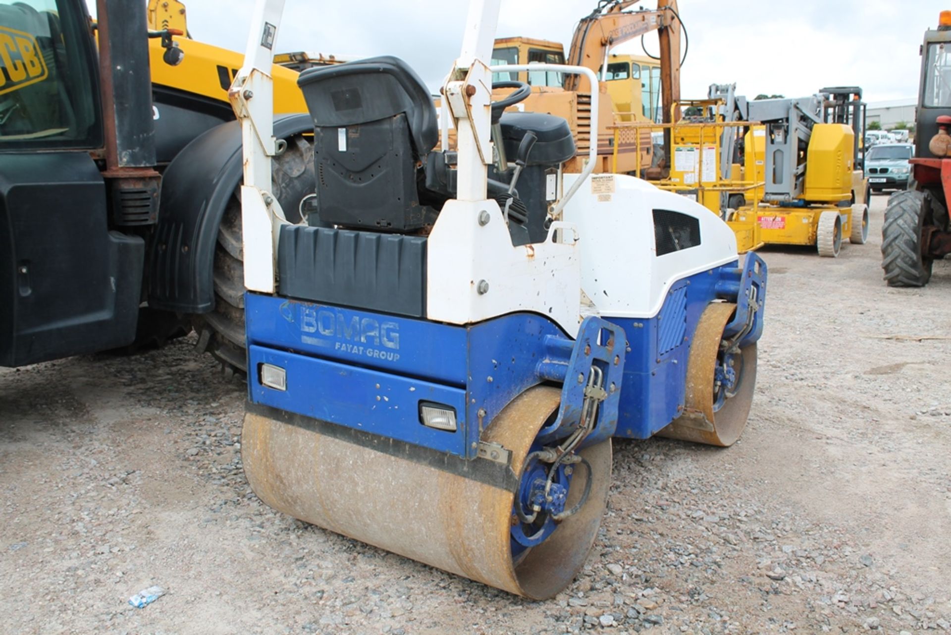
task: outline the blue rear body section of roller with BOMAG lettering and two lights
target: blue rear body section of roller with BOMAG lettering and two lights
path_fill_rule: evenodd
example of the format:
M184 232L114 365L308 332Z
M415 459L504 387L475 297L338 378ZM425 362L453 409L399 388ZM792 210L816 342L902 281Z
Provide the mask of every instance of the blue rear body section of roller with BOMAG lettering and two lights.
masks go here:
M623 332L599 318L588 318L575 342L531 313L456 327L247 293L245 315L252 403L466 458L476 456L495 415L529 387L587 375L595 360L606 382L619 385L623 372ZM262 364L284 368L285 390L262 384ZM584 388L565 383L547 428L553 438L577 424ZM619 396L615 390L600 408L597 438L613 432ZM424 402L455 409L456 431L423 426Z

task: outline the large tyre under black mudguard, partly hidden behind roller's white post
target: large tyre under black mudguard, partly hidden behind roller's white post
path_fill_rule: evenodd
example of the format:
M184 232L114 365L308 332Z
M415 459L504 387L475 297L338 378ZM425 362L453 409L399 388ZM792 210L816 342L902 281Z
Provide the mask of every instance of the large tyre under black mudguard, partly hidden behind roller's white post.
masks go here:
M313 194L312 142L301 135L287 139L287 149L271 161L273 191L291 223L301 223L301 202ZM247 370L244 340L244 256L242 244L241 189L224 210L215 245L215 308L192 318L198 347L220 361L228 377Z

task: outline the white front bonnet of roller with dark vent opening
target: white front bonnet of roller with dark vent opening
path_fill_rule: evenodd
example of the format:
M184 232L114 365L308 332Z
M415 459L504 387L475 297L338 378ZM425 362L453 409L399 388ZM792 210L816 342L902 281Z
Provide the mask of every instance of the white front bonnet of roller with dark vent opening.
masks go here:
M578 175L564 178L568 187ZM737 259L736 236L708 208L625 174L587 181L565 207L564 219L581 235L581 288L599 314L653 317L674 282ZM700 245L657 256L653 209L698 218Z

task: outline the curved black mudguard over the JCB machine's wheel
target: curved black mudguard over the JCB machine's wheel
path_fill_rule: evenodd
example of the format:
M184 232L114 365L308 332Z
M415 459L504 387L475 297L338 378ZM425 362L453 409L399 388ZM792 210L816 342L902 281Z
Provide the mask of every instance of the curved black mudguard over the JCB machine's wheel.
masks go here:
M274 121L279 139L313 129L306 114ZM206 313L215 307L212 272L218 226L242 176L237 121L204 132L165 169L159 222L146 265L149 307L180 313Z

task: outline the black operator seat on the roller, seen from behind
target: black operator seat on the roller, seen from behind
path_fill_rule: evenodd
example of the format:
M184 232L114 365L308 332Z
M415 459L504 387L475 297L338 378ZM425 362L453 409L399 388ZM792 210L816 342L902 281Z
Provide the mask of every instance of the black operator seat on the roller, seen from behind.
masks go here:
M439 138L429 89L384 55L307 69L298 78L314 120L317 213L344 228L422 228L417 166Z

